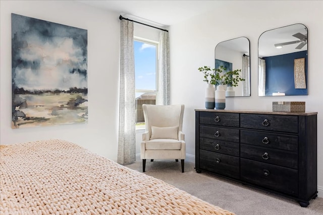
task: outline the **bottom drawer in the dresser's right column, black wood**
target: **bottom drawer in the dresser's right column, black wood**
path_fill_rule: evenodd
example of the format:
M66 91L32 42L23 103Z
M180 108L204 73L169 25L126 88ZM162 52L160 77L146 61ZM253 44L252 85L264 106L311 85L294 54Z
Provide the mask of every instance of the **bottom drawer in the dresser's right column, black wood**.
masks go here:
M240 178L264 188L298 195L298 171L286 167L240 159Z

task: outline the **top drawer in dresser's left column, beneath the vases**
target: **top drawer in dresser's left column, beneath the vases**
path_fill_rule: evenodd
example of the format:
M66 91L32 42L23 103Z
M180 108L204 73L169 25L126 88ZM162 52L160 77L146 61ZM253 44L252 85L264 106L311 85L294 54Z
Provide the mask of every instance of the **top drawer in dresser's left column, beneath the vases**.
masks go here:
M199 112L200 124L239 127L239 113Z

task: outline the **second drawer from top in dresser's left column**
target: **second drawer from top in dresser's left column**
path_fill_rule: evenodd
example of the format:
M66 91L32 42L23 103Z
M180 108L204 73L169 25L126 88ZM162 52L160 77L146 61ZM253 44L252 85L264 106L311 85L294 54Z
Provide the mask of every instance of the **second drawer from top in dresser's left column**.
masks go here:
M239 142L239 129L200 125L200 137Z

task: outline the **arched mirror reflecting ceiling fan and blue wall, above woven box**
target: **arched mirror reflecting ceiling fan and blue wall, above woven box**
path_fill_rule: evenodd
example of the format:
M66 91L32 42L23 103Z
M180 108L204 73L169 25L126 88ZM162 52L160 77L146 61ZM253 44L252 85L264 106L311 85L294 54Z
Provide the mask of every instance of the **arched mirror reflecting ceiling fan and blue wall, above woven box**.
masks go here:
M258 96L308 95L307 35L303 24L263 32L258 40Z

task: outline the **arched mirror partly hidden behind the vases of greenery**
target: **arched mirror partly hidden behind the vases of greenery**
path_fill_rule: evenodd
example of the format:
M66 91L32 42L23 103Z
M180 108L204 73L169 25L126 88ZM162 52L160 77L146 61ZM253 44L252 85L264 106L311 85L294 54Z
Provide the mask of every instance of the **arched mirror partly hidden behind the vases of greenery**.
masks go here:
M237 87L227 87L226 97L250 96L250 42L246 37L239 37L220 42L215 49L215 68L223 65L227 70L241 69Z

